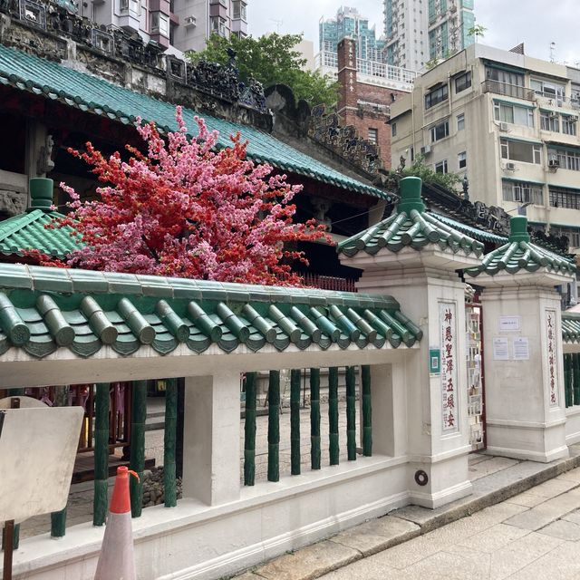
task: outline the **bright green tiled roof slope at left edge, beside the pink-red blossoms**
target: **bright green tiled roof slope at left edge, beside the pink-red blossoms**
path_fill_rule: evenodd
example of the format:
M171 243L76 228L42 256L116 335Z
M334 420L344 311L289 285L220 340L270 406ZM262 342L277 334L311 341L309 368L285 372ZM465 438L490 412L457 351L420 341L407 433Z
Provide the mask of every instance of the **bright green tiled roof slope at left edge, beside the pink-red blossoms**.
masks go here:
M33 209L0 222L0 252L5 256L24 256L25 250L39 250L62 258L82 246L70 226L47 228L53 219L64 218L57 211Z

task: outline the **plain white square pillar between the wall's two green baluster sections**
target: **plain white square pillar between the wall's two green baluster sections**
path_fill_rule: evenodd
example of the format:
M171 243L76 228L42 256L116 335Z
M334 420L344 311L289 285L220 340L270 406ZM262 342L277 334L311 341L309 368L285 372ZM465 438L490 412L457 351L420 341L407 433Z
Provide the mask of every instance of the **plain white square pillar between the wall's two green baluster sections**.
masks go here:
M239 372L185 380L183 497L215 506L239 498Z

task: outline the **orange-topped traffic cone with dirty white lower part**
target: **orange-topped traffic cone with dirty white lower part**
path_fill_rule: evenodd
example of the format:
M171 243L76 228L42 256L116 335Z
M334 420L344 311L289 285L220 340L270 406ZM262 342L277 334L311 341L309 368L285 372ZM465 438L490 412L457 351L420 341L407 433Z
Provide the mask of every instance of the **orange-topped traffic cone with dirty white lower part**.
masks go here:
M109 517L94 580L135 580L129 474L130 471L126 467L117 468Z

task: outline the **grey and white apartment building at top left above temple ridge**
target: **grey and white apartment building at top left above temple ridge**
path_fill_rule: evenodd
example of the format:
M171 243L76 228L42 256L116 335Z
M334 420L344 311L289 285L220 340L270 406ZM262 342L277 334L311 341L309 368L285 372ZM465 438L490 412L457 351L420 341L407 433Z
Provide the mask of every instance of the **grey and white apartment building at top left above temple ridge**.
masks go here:
M203 50L212 33L247 35L247 0L93 0L79 3L79 14L177 55Z

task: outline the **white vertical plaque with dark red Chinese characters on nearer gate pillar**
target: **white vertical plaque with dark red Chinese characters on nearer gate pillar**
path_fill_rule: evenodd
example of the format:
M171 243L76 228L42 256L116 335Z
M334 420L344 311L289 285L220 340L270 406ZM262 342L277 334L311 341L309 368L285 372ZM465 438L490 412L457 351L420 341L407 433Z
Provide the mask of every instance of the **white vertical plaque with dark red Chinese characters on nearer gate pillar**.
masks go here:
M443 432L459 430L455 303L440 302L441 410Z

